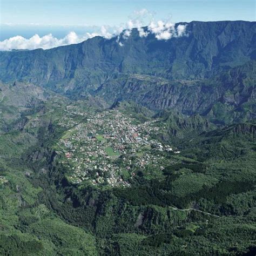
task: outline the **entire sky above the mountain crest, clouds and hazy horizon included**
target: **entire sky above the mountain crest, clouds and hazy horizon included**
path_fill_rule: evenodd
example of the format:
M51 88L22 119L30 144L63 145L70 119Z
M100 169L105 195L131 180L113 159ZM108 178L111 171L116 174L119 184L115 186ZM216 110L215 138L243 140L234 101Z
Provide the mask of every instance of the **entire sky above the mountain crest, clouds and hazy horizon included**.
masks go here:
M255 16L255 0L0 0L0 50L8 48L6 40L17 36L42 39L50 34L58 42L51 44L54 47L104 36L105 30L113 33L127 28L129 21L138 26L151 21L255 21ZM67 36L76 39L65 39ZM21 42L21 38L17 40ZM22 42L21 48L14 46L28 46Z

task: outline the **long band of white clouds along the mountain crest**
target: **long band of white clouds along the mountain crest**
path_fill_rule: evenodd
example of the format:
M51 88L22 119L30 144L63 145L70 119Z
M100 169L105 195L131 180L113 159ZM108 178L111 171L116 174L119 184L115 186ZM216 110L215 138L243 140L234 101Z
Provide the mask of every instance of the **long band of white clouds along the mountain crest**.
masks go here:
M146 22L145 22L146 19ZM142 27L147 25L147 30ZM132 29L137 29L140 37L147 37L152 33L158 40L169 40L172 37L186 36L186 25L176 26L170 21L154 21L153 14L146 9L134 11L133 16L126 24L116 27L102 26L100 31L84 35L77 35L75 32L70 32L63 38L56 38L51 33L45 36L37 34L31 38L15 36L4 41L0 41L0 51L10 51L12 49L28 49L34 50L38 48L50 49L57 46L81 43L95 36L102 36L106 39L117 37L116 42L119 46L124 46L125 41L130 37Z

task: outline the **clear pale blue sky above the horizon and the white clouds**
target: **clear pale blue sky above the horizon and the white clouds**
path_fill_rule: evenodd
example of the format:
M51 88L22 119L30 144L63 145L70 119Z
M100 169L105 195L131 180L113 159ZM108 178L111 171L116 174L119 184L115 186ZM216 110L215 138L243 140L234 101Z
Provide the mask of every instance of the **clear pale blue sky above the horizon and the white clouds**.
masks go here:
M1 23L115 25L143 8L174 22L255 20L255 0L1 0Z

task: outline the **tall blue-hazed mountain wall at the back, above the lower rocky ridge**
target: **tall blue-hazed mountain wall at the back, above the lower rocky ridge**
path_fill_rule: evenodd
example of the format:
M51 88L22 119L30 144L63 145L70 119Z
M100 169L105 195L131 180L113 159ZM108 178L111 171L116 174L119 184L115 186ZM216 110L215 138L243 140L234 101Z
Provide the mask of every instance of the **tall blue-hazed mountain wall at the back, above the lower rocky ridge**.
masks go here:
M95 37L50 50L0 52L2 80L29 80L59 91L95 88L113 73L139 73L168 79L210 77L255 59L255 22L191 22L186 36L158 41L137 29L124 46ZM177 24L178 25L178 24Z

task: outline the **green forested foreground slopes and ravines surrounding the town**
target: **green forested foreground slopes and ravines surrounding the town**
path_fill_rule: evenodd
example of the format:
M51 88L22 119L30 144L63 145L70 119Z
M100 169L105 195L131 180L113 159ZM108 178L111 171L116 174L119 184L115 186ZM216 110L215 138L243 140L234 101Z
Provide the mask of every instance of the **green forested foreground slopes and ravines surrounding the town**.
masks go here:
M84 131L83 125L90 125L88 120L84 121L83 109L87 110L87 106L77 102L67 111L67 106L60 102L62 99L59 103L55 99L55 104L51 104L54 112L48 106L43 113L27 115L29 122L22 131L13 129L0 136L3 142L0 146L1 254L255 252L253 122L215 130L210 126L208 132L193 138L192 130L183 133L188 126L179 126L176 129L183 136L175 140L172 151L166 151L170 146L163 150L159 145L171 143L173 137L166 132L170 118L146 117L142 120L134 114L136 119L125 119L131 114L129 104L116 106L120 112L103 111L103 116L99 115L100 122L112 122L113 115L122 122L132 120L127 125L132 124L134 128L144 127L140 126L143 122L154 121L149 123L156 127L152 130L154 143L139 145L138 149L134 147L136 144L130 144L126 151L130 154L136 149L136 152L129 156L123 151L114 152L112 146L104 146L110 142L104 135L108 135L108 130L96 138L93 133ZM129 107L127 113L126 107ZM191 125L197 120L190 119ZM95 120L93 125L97 126ZM92 130L96 126L92 126ZM122 134L120 127L118 132ZM147 134L143 129L139 133L142 137ZM155 142L154 133L162 144ZM90 152L84 138L98 147L102 145L106 156L115 156L112 161L120 166L117 175L129 185L117 183L111 188L104 180L104 175L108 174L99 169L73 185L69 177L78 165L72 159L83 158L82 152ZM64 144L58 144L59 140ZM114 140L113 145L118 146L117 143L118 140ZM176 151L180 153L174 153ZM72 155L70 167L65 165L68 156L65 154L69 152ZM149 152L156 156L152 163L149 161L144 169L132 167L137 158ZM126 169L124 164L123 157L127 156L131 159L131 169ZM162 169L153 167L156 161L159 161L156 166L164 165ZM98 187L89 182L97 179L97 175L103 176Z

